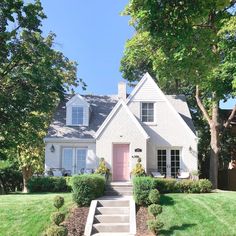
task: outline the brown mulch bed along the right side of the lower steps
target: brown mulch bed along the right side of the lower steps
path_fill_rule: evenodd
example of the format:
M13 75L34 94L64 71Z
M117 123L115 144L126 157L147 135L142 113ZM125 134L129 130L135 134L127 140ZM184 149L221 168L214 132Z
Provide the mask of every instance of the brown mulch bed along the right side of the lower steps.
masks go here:
M150 219L148 216L148 210L146 207L139 207L136 214L136 226L137 234L136 236L154 236L152 232L148 230L147 220Z

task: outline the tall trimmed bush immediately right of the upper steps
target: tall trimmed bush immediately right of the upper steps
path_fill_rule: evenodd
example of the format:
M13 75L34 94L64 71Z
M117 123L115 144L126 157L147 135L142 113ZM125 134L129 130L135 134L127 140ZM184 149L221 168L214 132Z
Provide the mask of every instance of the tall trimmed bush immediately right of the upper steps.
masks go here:
M153 189L153 178L151 177L135 177L133 179L134 200L138 205L148 205L149 192Z

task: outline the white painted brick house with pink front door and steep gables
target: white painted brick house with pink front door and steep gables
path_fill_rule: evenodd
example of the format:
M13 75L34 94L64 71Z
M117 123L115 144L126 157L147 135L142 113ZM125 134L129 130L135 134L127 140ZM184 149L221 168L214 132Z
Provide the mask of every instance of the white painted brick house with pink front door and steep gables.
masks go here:
M72 174L98 166L103 157L114 181L128 181L140 157L145 170L176 177L198 169L197 137L184 95L164 95L146 73L126 97L68 95L45 137L45 169Z

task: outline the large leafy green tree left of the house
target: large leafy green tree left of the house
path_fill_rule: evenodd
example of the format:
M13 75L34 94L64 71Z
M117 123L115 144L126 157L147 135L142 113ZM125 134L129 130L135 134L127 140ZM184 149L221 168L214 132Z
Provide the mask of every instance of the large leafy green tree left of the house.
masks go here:
M53 49L55 35L43 37L46 16L39 0L0 3L0 148L13 149L24 177L42 166L43 137L55 107L72 86L77 64Z

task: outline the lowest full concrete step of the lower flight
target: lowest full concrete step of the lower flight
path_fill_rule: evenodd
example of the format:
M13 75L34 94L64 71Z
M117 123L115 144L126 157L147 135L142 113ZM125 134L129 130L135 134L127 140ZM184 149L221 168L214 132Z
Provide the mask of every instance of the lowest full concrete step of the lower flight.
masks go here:
M123 232L129 233L129 223L97 223L93 224L92 233L105 233L105 232Z

